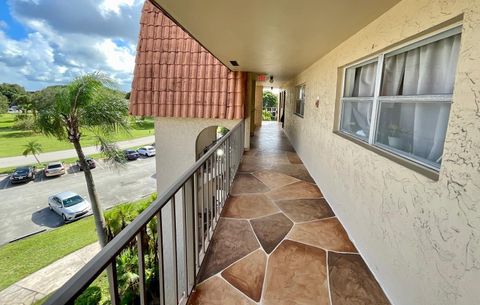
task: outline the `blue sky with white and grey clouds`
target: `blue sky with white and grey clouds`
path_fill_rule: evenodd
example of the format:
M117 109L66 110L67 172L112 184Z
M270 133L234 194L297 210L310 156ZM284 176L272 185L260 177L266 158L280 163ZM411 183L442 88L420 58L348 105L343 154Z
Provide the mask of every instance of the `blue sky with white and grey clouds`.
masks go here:
M144 0L0 0L0 83L34 91L85 73L130 91Z

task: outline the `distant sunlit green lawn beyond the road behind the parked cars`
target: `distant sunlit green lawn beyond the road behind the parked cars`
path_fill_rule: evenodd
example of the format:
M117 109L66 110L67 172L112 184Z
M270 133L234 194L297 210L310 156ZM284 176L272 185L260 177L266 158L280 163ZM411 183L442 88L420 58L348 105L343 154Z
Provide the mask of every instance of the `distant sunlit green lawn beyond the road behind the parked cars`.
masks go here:
M33 131L16 130L13 128L16 114L0 115L0 158L19 156L24 150L24 145L32 140L38 141L44 152L72 149L73 145L67 141L59 141ZM129 132L120 132L112 140L124 141L146 137L154 134L153 119L145 119L141 125L134 125ZM96 145L93 134L84 131L82 145L84 147ZM41 160L40 160L41 161Z

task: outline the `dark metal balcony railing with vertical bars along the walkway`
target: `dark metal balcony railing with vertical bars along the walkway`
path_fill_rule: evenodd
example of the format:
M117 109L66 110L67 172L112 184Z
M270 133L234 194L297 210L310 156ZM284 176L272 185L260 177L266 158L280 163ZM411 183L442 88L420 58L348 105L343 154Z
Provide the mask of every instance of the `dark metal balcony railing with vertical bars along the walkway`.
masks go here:
M240 164L244 129L243 121L237 124L45 304L73 304L105 271L111 275L111 304L120 304L117 259L126 249L138 257L140 304L185 304ZM147 234L154 236L153 243L146 241ZM155 254L149 262L155 270L147 270L146 251Z

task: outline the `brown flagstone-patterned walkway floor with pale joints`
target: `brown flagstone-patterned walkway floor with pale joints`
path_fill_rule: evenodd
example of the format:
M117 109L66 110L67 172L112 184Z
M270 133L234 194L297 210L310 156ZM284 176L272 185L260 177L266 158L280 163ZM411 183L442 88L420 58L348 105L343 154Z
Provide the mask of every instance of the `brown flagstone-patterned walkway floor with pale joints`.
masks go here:
M280 126L252 147L189 304L390 304Z

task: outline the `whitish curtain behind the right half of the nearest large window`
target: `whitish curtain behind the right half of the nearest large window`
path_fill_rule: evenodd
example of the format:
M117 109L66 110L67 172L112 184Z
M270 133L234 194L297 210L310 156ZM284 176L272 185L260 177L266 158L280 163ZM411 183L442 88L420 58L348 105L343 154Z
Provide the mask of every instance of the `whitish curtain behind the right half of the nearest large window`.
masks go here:
M452 94L460 34L385 58L381 95ZM403 104L399 127L413 134L412 153L439 162L450 105Z

